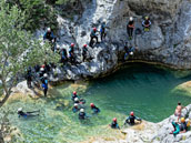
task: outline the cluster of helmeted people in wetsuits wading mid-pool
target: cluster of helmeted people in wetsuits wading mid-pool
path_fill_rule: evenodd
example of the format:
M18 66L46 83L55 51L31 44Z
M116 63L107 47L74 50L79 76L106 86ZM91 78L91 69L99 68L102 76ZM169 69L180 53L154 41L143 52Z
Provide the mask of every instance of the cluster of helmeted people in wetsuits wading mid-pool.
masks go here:
M86 119L88 119L89 116L84 112L84 109L86 109L86 106L84 106L86 100L84 99L81 99L77 94L77 91L73 91L71 100L73 102L72 111L73 111L73 113L79 112L79 114L78 114L79 115L79 120L86 120ZM90 108L92 110L92 114L98 114L100 112L100 109L97 108L94 105L94 103L90 103Z

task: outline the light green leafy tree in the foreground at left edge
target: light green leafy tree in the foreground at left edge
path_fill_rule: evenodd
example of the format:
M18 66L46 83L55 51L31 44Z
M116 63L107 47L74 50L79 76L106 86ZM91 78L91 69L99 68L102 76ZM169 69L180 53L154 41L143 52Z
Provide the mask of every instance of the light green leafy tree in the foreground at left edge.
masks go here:
M22 30L24 22L24 13L17 7L0 2L0 89L3 91L0 108L24 69L44 60L58 62L58 55L48 43L41 45L41 41Z

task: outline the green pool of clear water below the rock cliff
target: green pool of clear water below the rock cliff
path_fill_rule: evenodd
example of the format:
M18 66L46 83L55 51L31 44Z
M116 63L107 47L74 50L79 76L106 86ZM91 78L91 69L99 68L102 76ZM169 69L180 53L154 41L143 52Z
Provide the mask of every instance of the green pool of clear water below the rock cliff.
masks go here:
M148 64L131 64L117 73L89 83L87 90L78 91L87 100L86 111L91 116L86 122L78 120L72 113L71 92L73 86L60 85L49 99L16 100L4 106L9 111L11 124L19 127L24 143L74 143L88 140L89 136L109 136L108 124L118 118L122 125L130 111L151 122L160 122L173 114L178 101L187 105L191 98L172 90L190 80L190 75L178 78L173 71ZM69 106L62 106L63 102ZM99 115L92 115L89 104L93 102L101 109ZM57 109L60 105L61 108ZM40 116L19 119L16 111L19 106L24 111L39 110Z

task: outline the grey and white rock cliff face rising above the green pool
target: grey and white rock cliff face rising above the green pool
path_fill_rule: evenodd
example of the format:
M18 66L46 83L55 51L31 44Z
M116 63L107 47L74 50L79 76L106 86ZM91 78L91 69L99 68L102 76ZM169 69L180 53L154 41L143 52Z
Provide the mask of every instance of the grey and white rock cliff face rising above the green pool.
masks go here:
M98 78L113 71L127 61L124 43L137 48L128 61L163 63L175 69L191 68L191 1L189 0L91 0L80 3L83 11L73 21L58 17L58 48L76 43L78 65L60 69L60 80ZM127 23L133 17L135 29L129 40ZM142 19L149 16L152 22L149 32L142 30ZM107 22L107 38L89 49L90 62L81 62L81 48L90 41L92 27L100 29ZM135 32L139 31L139 32ZM42 35L44 31L38 31Z

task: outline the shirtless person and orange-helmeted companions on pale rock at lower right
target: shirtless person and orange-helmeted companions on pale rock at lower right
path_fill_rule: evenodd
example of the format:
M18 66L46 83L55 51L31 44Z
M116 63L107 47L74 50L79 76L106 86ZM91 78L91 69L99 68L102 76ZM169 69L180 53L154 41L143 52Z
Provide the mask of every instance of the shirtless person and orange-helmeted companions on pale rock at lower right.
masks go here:
M190 121L185 121L185 116L182 115L182 109L187 108L182 106L182 104L179 102L174 112L174 115L178 116L178 120L172 122L174 130L170 132L170 134L173 134L174 136L179 133L185 133L190 126Z

